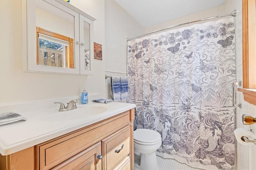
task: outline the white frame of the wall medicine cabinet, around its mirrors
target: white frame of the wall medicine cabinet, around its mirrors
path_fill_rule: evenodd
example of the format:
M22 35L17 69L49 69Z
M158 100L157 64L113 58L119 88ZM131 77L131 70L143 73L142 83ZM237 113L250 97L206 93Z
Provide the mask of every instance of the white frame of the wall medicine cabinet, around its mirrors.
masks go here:
M22 68L24 72L92 75L93 74L93 21L96 19L63 0L42 0L74 16L74 68L51 67L37 64L36 47L36 1L22 0ZM80 44L80 18L90 24L90 70L84 70L84 55ZM33 34L34 33L34 34ZM82 40L83 42L84 40ZM83 62L82 62L83 61Z

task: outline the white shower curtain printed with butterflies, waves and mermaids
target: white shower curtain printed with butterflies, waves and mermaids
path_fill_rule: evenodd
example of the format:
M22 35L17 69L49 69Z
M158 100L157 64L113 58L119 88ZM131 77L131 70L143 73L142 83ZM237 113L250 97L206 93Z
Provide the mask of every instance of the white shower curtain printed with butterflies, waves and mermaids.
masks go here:
M136 128L162 136L157 154L203 169L234 169L234 20L128 42L128 103Z

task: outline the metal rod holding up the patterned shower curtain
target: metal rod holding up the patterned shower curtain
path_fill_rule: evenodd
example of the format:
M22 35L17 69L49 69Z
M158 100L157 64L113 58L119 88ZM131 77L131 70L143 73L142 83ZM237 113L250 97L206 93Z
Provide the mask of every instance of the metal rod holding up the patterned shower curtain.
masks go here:
M211 19L214 19L214 18L220 18L220 17L224 17L224 16L233 16L233 17L236 17L236 10L232 11L232 12L229 13L229 14L223 14L223 15L219 15L219 16L213 16L213 17L210 17L210 18L204 18L204 19L201 19L201 20L195 20L195 21L186 22L186 23L183 23L183 24L178 24L178 25L174 25L174 26L162 28L162 29L160 29L160 30L156 30L156 31L152 31L152 32L145 33L145 34L141 34L140 36L136 36L136 37L133 37L133 38L127 38L126 41L128 42L128 41L130 41L130 40L134 40L134 39L136 39L136 38L143 37L143 36L146 36L146 35L148 35L148 34L155 33L155 32L160 32L160 31L163 31L163 30L168 30L168 29L170 29L170 28L174 28L174 27L178 27L178 26L183 26L183 25L186 25L186 24L194 23L194 22L200 22L200 21L205 21L205 20L211 20Z

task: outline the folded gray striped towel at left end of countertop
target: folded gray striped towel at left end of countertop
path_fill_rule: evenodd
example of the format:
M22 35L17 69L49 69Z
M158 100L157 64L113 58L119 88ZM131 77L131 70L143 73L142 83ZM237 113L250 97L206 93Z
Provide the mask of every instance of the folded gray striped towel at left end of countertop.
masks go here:
M0 127L21 123L27 119L14 112L0 113Z

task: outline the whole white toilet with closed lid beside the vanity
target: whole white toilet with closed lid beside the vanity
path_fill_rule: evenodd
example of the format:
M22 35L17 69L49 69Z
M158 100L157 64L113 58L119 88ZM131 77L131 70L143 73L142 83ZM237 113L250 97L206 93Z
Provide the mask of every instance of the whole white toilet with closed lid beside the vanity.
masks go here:
M134 131L134 166L140 170L158 170L156 150L161 146L161 135L150 129Z

